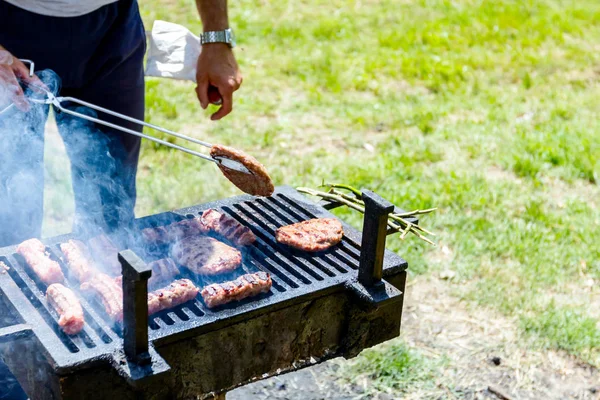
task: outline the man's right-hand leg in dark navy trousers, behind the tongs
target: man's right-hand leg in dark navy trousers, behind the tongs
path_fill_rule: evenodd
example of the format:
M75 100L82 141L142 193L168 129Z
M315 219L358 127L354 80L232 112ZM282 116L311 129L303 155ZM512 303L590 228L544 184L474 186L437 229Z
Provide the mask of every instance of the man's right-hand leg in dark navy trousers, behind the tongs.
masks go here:
M85 84L62 94L143 120L144 28L135 1L116 4L116 20L86 63ZM103 113L98 117L141 132L136 124ZM57 121L71 159L77 214L74 230L100 227L112 231L129 226L134 219L140 139L68 115L59 115Z

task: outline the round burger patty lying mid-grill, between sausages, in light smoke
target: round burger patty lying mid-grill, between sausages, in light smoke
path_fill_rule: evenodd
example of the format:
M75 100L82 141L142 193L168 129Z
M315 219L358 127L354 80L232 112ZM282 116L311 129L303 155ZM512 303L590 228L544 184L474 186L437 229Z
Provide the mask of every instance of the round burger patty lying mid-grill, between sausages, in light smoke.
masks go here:
M200 275L233 271L242 262L238 250L208 236L182 239L171 253L177 263Z

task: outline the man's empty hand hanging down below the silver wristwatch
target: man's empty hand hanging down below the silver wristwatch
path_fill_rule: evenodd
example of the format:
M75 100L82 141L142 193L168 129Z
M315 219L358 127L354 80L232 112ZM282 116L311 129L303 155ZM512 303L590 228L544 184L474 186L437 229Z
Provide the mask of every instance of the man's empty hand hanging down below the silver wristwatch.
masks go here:
M231 48L225 43L203 45L196 70L196 93L200 105L206 109L210 103L222 99L221 108L210 119L216 121L223 118L231 112L233 92L242 84L242 75Z

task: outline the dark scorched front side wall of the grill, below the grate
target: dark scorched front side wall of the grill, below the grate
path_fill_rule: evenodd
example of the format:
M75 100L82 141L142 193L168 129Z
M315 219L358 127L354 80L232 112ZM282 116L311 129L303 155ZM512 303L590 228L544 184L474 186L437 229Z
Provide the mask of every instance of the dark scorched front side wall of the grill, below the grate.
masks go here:
M324 361L357 354L364 347L398 336L399 328L398 302L358 310L351 293L342 291L158 347L171 366L170 375L142 392L134 392L107 368L61 378L60 398L197 398L313 365L311 357ZM386 332L383 336L382 329Z

